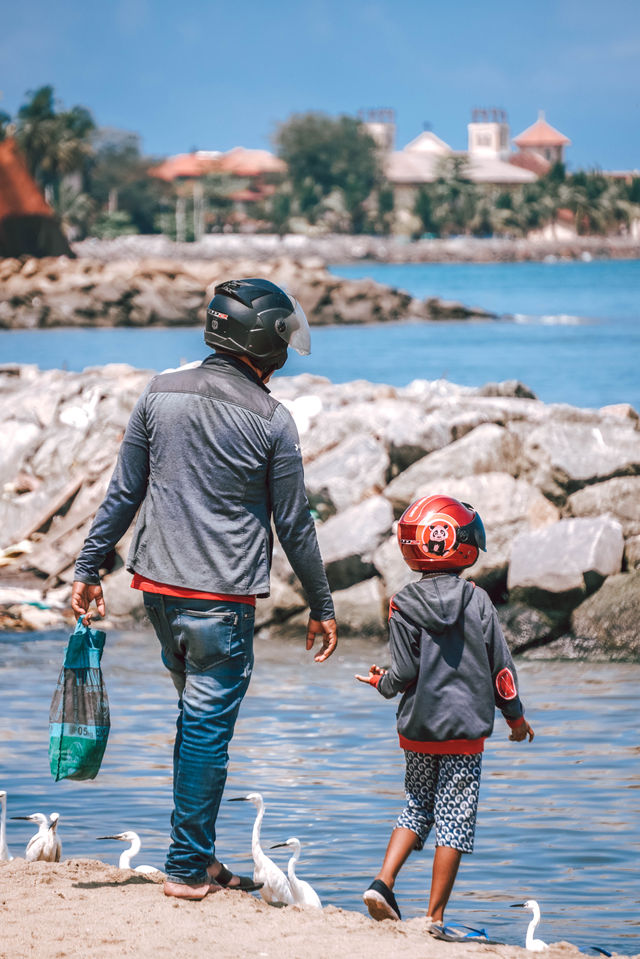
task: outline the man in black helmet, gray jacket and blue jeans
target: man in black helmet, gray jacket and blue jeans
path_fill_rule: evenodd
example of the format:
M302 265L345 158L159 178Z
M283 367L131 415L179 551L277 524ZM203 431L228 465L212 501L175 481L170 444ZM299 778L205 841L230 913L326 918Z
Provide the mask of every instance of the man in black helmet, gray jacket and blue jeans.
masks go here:
M253 666L256 596L269 594L271 518L305 590L307 649L337 643L333 603L304 489L300 443L266 383L287 347L308 354L306 317L263 279L215 289L196 368L154 377L138 400L104 502L78 558L71 606L105 603L99 570L140 508L127 568L179 695L166 895L256 888L215 858L228 744Z

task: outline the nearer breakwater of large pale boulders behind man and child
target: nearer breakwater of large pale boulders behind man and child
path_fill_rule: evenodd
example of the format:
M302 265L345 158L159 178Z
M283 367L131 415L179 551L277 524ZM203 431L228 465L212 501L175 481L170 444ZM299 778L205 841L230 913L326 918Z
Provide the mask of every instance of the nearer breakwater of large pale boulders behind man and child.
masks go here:
M5 628L70 623L73 560L149 372L0 373L0 608ZM532 656L640 659L640 421L628 406L546 405L516 382L404 389L278 377L300 431L310 504L342 635L383 638L389 598L415 574L396 521L418 496L471 502L488 550L469 571L499 606L511 647ZM140 619L108 558L110 621ZM276 546L261 629L300 635L305 601Z

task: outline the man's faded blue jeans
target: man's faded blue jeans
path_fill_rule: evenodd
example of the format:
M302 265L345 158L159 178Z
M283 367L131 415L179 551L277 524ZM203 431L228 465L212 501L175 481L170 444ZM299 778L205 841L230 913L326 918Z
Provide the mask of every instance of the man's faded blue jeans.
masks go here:
M228 745L253 668L255 610L156 593L145 593L144 603L179 696L165 872L174 882L206 882Z

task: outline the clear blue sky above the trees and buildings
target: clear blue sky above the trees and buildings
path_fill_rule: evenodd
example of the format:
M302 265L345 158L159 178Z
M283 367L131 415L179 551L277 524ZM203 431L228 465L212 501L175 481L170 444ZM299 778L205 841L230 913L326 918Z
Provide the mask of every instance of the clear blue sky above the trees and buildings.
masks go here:
M474 107L512 136L539 109L573 168L640 167L638 0L22 0L0 17L0 109L62 105L162 156L271 146L294 112L392 107L466 146Z

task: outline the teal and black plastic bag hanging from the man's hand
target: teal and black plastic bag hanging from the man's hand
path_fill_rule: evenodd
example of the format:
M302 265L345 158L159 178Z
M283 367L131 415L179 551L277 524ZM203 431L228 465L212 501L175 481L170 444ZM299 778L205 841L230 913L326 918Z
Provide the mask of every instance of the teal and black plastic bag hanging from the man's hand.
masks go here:
M98 775L110 727L100 668L105 638L82 617L69 637L49 711L49 766L56 782Z

